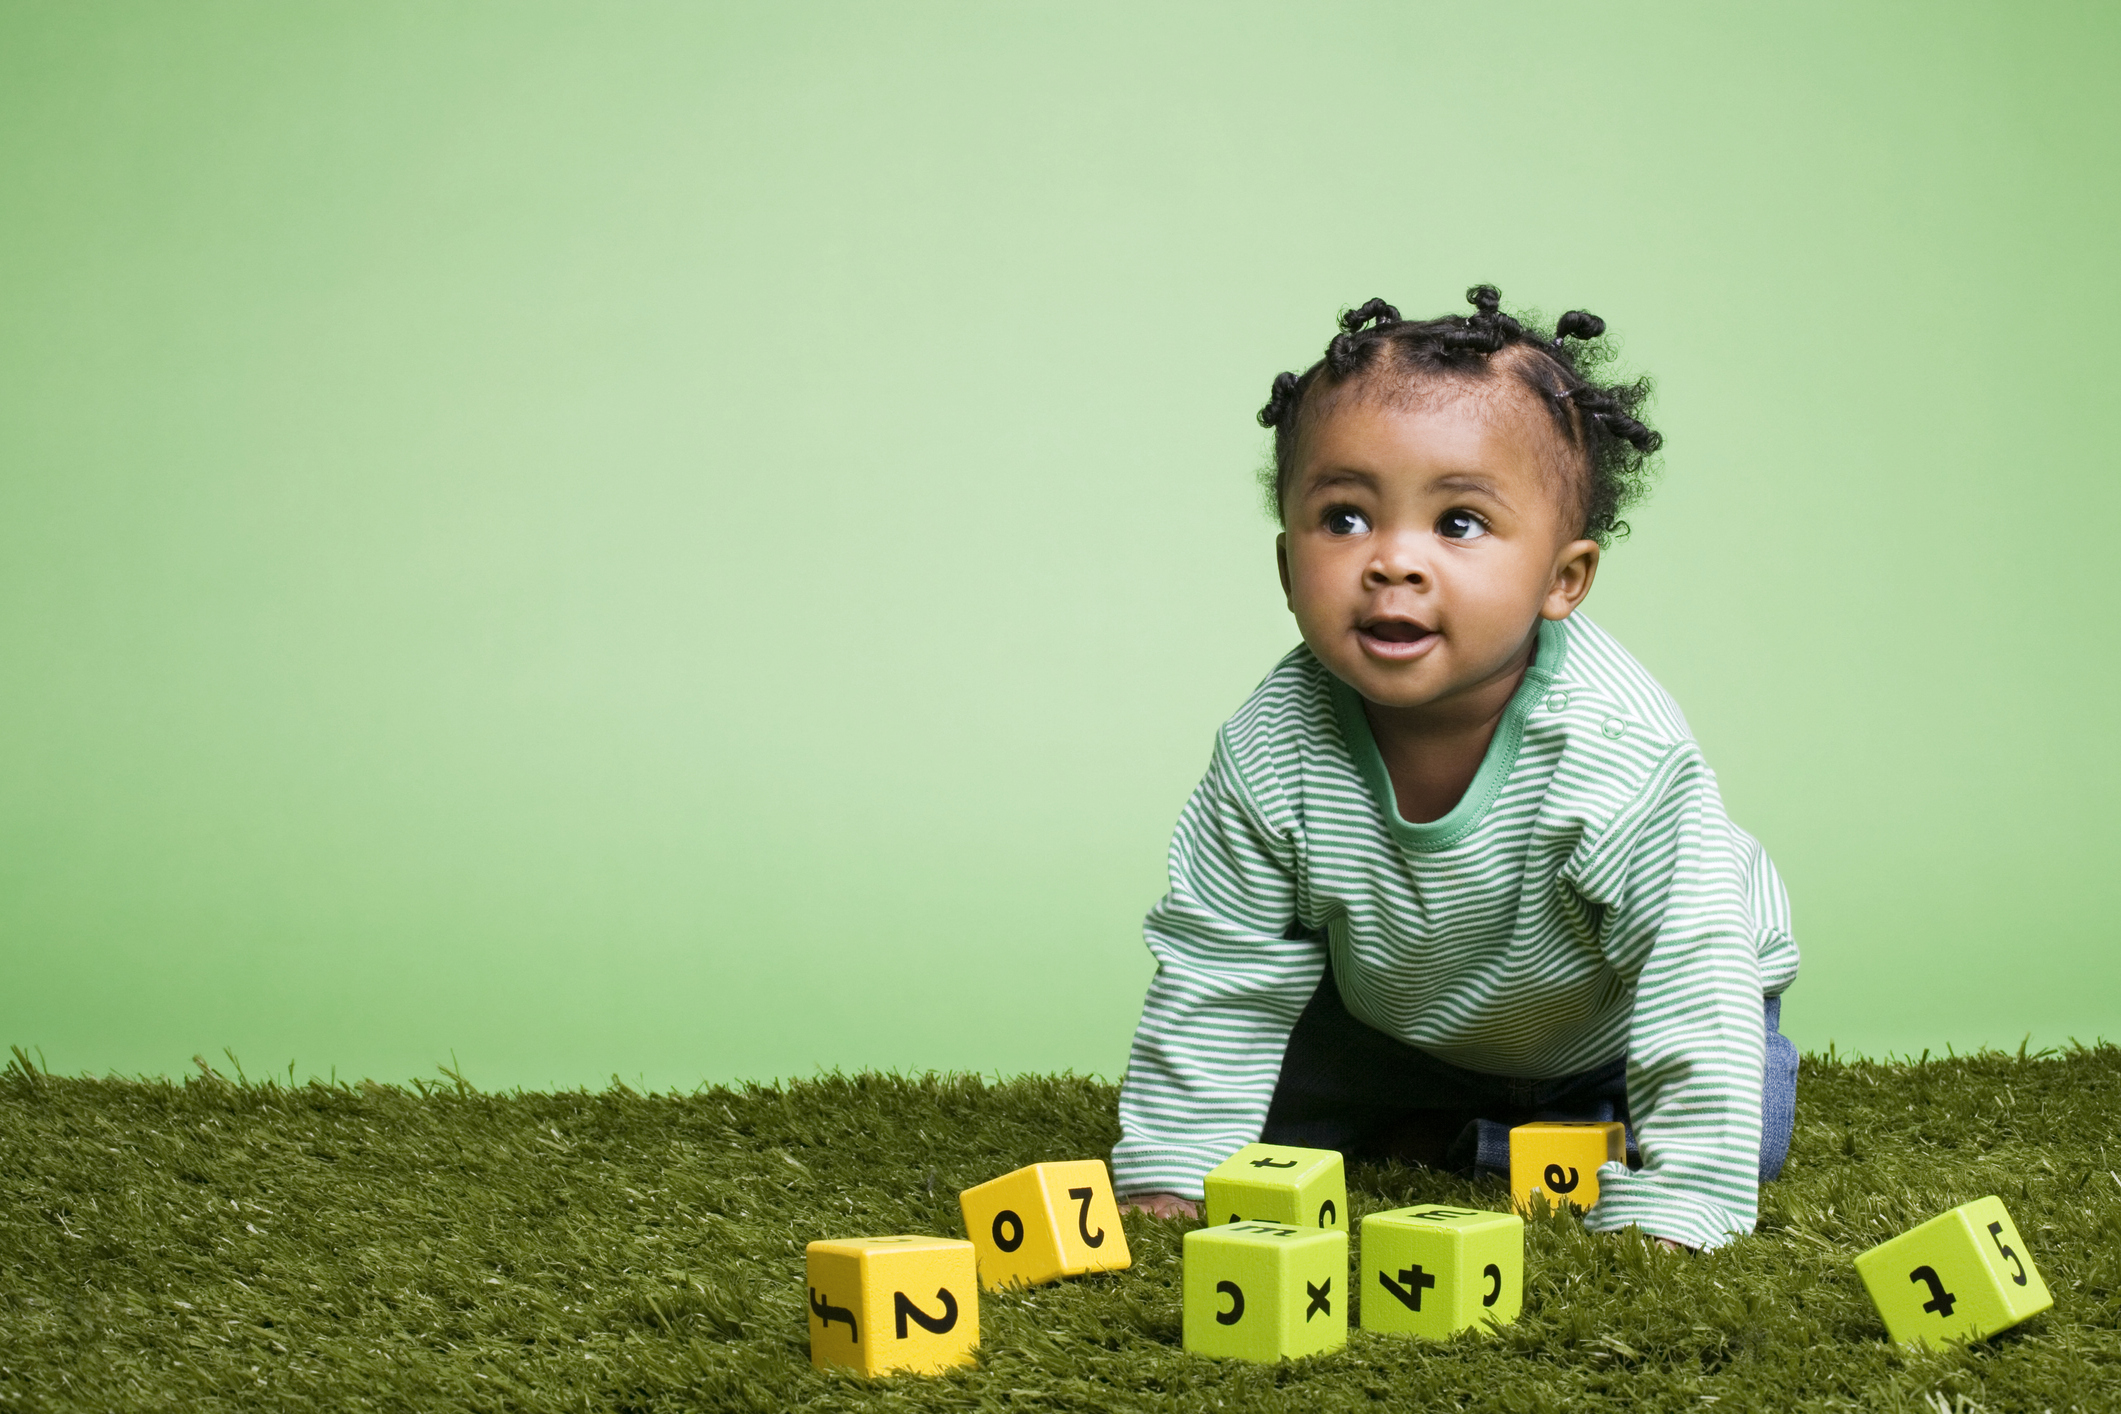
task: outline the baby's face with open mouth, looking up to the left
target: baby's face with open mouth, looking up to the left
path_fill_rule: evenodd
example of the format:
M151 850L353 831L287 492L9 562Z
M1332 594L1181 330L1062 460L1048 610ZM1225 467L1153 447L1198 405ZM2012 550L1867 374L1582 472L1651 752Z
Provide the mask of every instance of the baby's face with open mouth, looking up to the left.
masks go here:
M1508 388L1343 394L1290 479L1281 585L1311 651L1383 708L1449 708L1523 668L1591 589L1544 413Z

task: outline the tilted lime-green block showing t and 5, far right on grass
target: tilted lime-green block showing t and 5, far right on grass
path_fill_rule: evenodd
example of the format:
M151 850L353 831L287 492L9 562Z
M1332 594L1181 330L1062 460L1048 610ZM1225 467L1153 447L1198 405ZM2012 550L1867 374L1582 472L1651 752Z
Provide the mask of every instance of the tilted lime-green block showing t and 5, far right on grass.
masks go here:
M1987 1340L2055 1304L2000 1198L1975 1198L1856 1259L1886 1333L1932 1348Z

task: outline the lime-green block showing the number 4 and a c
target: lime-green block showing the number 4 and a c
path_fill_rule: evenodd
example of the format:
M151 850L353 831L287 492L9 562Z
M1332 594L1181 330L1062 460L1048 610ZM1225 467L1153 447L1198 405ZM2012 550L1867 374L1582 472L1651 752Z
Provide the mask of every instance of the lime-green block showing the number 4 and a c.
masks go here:
M1525 1219L1423 1202L1362 1219L1362 1329L1442 1340L1517 1321Z

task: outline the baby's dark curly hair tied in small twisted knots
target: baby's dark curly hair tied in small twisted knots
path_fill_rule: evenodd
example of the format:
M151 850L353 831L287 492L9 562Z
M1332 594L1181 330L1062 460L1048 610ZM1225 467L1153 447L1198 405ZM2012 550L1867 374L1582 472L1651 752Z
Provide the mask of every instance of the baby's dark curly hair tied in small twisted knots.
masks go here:
M1340 316L1340 333L1326 356L1302 373L1277 373L1260 426L1275 430L1275 464L1262 483L1281 519L1281 505L1296 471L1304 401L1321 384L1353 386L1370 373L1398 382L1430 379L1485 382L1500 371L1517 375L1555 420L1555 430L1580 456L1582 536L1608 545L1627 534L1620 511L1642 500L1650 481L1650 458L1663 437L1635 413L1650 396L1650 379L1599 384L1595 375L1612 360L1606 320L1570 310L1555 329L1502 312L1493 284L1466 290L1470 316L1402 320L1383 299L1372 299Z

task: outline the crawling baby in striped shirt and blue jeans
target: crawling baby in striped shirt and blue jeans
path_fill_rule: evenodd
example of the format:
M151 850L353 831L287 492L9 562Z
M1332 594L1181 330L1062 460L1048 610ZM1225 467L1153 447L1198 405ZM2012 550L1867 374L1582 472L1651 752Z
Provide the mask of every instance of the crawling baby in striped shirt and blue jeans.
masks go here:
M1782 1170L1796 943L1686 719L1578 613L1659 437L1603 320L1372 299L1275 432L1294 649L1215 736L1120 1094L1130 1206L1198 1215L1239 1145L1508 1166L1625 1119L1584 1223L1707 1249Z

